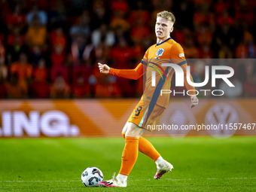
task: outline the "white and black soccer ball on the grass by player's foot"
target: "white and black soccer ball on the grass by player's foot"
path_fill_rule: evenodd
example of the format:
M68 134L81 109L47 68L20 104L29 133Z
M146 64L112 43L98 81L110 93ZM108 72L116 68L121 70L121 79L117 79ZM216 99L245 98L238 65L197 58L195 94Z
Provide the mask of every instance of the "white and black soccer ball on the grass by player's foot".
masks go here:
M103 181L103 173L95 166L90 166L84 170L81 180L85 187L99 187L99 181Z

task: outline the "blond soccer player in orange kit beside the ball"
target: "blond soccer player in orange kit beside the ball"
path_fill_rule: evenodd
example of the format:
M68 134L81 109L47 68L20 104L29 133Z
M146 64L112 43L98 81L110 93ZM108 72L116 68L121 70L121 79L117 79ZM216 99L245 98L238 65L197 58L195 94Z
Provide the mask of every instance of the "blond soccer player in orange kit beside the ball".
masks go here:
M117 177L108 181L100 181L104 187L126 187L126 180L138 157L138 151L150 157L157 164L157 173L154 178L160 178L166 172L171 172L173 166L160 156L154 146L147 139L142 137L142 133L147 129L146 125L151 125L165 111L169 103L169 94L161 94L160 90L169 90L174 69L170 66L161 66L161 63L175 63L183 69L184 83L190 96L193 108L198 104L194 87L187 83L186 72L187 62L184 58L184 51L180 44L175 42L170 33L173 31L175 17L168 11L157 14L155 33L157 44L148 48L142 62L136 69L112 69L105 64L98 63L99 70L103 74L115 75L121 78L138 79L146 73L145 90L142 99L134 109L130 118L123 127L122 135L125 139L123 148L122 163ZM152 72L155 72L155 86L153 86ZM157 72L156 72L157 71ZM190 75L190 81L193 81ZM193 93L192 93L193 92Z

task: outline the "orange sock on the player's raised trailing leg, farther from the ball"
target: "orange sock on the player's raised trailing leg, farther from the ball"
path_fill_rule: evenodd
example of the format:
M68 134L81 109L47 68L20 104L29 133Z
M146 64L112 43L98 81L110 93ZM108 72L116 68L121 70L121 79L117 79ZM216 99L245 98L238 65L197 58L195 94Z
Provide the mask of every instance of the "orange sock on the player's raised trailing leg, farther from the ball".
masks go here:
M125 134L122 133L122 135L123 138L125 138ZM142 152L142 154L151 157L151 159L154 161L156 161L160 157L160 154L157 152L151 142L148 142L148 140L144 137L139 138L139 152Z

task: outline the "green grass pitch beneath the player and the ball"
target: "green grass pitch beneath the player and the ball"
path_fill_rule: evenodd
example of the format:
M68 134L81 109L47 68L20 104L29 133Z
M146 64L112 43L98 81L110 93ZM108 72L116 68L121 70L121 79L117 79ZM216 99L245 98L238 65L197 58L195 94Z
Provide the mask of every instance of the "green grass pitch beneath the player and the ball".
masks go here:
M126 188L84 187L81 173L120 169L123 138L0 139L0 191L256 191L256 137L148 138L174 170L139 154Z

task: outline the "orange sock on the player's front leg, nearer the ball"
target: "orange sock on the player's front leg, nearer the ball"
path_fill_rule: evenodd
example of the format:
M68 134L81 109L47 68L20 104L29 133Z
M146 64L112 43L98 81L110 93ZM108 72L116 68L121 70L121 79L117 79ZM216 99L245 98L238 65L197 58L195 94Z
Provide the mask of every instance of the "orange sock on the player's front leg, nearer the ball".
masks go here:
M122 165L119 171L121 175L129 175L138 157L139 138L125 137L125 146L122 154Z

